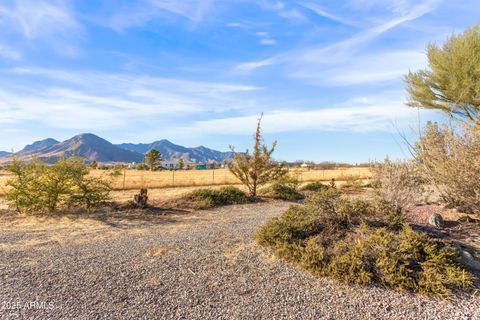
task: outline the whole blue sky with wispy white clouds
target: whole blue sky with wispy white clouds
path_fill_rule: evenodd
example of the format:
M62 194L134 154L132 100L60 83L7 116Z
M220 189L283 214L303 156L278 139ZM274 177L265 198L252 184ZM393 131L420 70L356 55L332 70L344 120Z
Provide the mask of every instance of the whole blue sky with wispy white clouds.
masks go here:
M408 156L402 75L480 22L478 0L2 0L0 150L81 132L283 160Z

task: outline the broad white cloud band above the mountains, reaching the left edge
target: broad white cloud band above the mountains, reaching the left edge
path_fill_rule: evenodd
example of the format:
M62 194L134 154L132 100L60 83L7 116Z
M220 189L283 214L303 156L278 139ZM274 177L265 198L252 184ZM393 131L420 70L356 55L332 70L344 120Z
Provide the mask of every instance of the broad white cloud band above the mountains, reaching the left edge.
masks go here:
M51 128L95 129L131 121L178 119L243 108L258 87L132 74L17 68L0 91L0 124L36 121ZM31 80L38 78L36 81ZM52 84L53 83L53 84ZM45 115L48 115L46 117ZM173 120L172 120L173 121Z

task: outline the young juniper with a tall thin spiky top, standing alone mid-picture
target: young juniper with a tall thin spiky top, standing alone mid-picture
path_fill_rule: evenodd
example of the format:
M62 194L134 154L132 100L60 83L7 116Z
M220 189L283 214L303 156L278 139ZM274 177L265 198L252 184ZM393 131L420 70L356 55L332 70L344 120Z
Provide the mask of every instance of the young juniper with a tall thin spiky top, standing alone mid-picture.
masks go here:
M277 142L275 141L270 149L262 144L260 128L262 117L263 114L258 119L253 152L250 154L247 150L245 153L238 153L235 152L233 146L230 146L234 153L234 159L227 163L230 172L248 188L252 198L256 197L259 186L274 181L287 173L282 163L272 160L272 153L275 151Z

